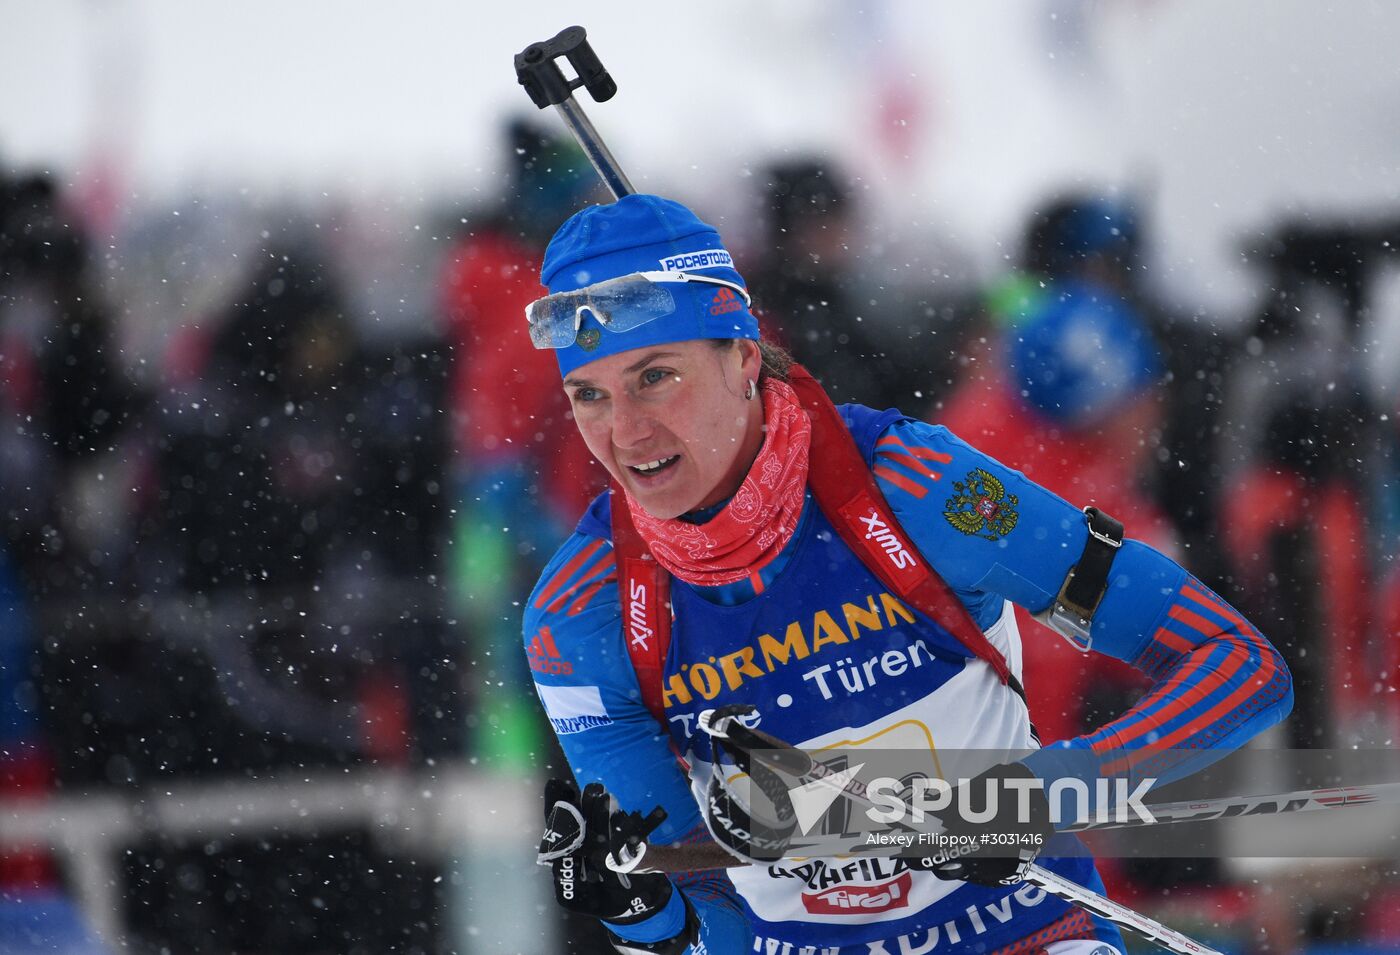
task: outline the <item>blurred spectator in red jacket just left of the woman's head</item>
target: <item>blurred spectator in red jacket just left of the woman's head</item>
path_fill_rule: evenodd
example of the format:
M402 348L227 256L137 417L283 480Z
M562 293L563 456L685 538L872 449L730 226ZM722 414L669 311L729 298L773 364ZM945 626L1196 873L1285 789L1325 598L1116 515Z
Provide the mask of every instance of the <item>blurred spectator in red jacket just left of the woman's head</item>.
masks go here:
M448 255L440 302L452 346L458 598L500 700L479 727L487 753L525 758L532 716L515 595L529 591L605 475L592 463L552 351L531 346L525 307L545 294L539 266L553 230L594 200L598 179L571 143L517 120L507 127L510 182L494 209L466 217ZM592 472L596 480L588 480Z

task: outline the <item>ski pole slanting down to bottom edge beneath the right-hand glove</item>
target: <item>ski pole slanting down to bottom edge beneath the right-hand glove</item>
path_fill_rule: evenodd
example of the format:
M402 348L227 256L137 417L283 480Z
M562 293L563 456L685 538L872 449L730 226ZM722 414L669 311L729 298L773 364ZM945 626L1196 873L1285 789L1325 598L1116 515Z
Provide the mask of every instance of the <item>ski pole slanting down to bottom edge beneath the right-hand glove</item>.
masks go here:
M797 746L792 746L791 744L777 739L776 737L770 737L766 732L759 732L745 727L735 716L721 716L715 718L714 710L706 710L700 714L697 723L700 724L700 728L711 737L718 737L720 739L727 741L735 749L745 752L749 759L763 763L769 769L787 774L806 776L811 780L830 779L830 770L813 760L808 753L802 752ZM811 770L818 766L826 772L813 774ZM795 769L806 769L808 772L794 773ZM840 788L840 794L844 798L861 805L875 807L879 809L886 808L865 795L864 787L861 787L861 791L857 793L855 788L843 786ZM1084 888L1078 882L1051 872L1043 865L1026 865L1021 872L1021 879L1044 892L1049 892L1053 896L1064 899L1071 905L1077 905L1081 909L1092 912L1100 919L1107 919L1120 928L1134 931L1142 938L1156 942L1162 948L1176 952L1177 955L1221 955L1221 952L1214 948L1208 948L1207 945L1183 935L1175 928L1168 928L1161 921L1144 916L1141 912L1130 909L1126 905L1102 896L1092 889Z

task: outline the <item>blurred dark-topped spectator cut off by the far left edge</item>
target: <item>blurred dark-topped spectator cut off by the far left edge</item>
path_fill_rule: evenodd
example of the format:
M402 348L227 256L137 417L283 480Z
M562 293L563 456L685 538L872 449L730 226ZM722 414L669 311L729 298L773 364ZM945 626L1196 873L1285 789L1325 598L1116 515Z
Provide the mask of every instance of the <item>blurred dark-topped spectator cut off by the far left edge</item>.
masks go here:
M39 647L57 634L38 620L99 590L125 556L95 546L98 514L77 506L134 405L88 259L49 176L0 172L0 802L53 787ZM29 944L102 951L42 847L0 847L0 898L42 912Z

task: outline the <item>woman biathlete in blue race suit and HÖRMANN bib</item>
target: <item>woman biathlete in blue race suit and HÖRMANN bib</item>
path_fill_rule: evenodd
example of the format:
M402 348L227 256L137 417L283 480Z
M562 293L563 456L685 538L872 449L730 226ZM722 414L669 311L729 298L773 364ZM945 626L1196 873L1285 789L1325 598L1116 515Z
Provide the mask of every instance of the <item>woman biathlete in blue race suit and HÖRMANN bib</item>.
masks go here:
M630 195L575 214L542 281L529 333L554 349L613 480L525 613L540 702L584 786L546 793L540 858L559 902L602 919L623 952L1121 949L1109 923L1018 881L1033 849L764 856L742 801L714 786L699 718L749 704L748 725L808 751L1029 753L987 769L994 780L1168 779L1288 714L1270 643L1110 515L944 427L833 407L760 343L720 235L679 203ZM1040 749L1012 604L1152 690ZM1197 756L1154 762L1182 752ZM1046 790L1026 791L1030 829L1050 835ZM647 832L651 847L710 850L710 865L711 840L739 858L615 871ZM1037 864L1102 891L1082 851Z

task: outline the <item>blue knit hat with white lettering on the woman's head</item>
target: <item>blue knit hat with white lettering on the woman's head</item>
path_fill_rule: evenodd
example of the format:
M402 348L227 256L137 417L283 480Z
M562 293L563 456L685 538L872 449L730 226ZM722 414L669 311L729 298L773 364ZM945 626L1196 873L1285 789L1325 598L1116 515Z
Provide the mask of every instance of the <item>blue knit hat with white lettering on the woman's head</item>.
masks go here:
M748 287L713 225L678 202L647 195L571 216L545 249L540 281L553 294L636 272L689 272ZM560 374L648 344L759 337L757 319L732 290L701 283L666 283L665 288L676 309L627 332L612 332L585 314L578 340L557 349Z

